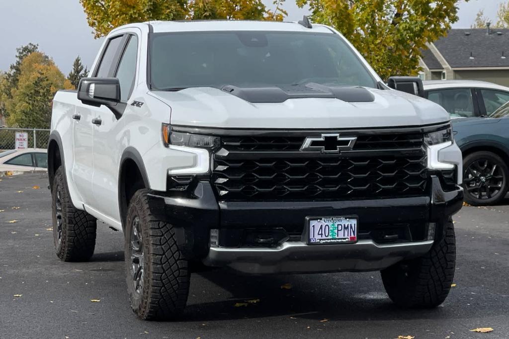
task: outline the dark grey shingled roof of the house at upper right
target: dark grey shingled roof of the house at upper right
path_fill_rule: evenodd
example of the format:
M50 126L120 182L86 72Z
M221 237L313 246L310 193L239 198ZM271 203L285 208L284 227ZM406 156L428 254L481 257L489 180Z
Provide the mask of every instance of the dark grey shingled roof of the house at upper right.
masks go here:
M509 29L492 29L489 35L486 29L453 29L433 44L451 68L509 67ZM423 53L422 60L430 69L436 65L434 55Z

